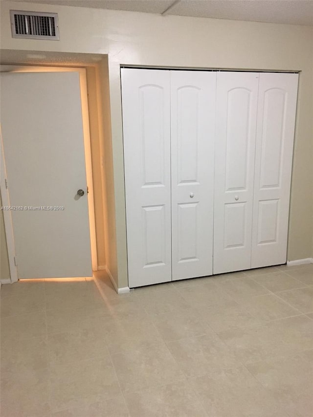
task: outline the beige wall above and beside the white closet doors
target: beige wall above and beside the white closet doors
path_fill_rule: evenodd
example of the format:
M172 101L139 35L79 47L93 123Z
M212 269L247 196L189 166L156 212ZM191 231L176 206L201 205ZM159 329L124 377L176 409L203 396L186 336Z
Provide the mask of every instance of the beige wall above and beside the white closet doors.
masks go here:
M12 39L9 9L57 12L60 41ZM301 71L291 189L288 260L312 256L313 28L258 22L1 2L2 49L108 54L112 134L105 146L108 212L114 224L107 258L127 286L120 65ZM102 71L103 75L103 71ZM108 74L104 74L103 83ZM104 85L103 90L106 89ZM104 104L106 109L108 103ZM108 115L108 112L106 113ZM107 117L107 115L105 117ZM107 132L108 134L108 132ZM110 154L110 156L109 156ZM109 158L109 160L107 160ZM113 184L114 178L114 184ZM113 199L114 196L114 199ZM110 220L111 221L111 220Z

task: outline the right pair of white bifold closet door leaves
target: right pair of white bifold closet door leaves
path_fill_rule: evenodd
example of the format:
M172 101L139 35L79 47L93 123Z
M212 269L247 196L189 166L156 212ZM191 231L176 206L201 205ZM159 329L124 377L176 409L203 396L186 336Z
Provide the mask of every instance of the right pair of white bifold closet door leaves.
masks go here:
M298 74L219 73L215 274L286 262Z

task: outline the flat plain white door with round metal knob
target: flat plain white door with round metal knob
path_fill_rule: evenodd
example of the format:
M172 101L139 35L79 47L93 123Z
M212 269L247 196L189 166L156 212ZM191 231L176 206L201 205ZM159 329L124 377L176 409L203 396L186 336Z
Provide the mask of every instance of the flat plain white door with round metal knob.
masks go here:
M18 276L91 276L79 75L2 73L0 82L10 204L23 208L12 211Z

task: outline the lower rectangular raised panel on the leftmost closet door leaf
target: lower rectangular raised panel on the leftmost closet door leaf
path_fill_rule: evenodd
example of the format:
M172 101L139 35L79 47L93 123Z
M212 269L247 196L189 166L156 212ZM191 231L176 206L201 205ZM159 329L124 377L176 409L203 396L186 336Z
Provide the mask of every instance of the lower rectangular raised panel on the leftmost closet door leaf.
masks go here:
M143 233L145 264L165 265L166 242L165 242L165 214L164 205L143 207Z

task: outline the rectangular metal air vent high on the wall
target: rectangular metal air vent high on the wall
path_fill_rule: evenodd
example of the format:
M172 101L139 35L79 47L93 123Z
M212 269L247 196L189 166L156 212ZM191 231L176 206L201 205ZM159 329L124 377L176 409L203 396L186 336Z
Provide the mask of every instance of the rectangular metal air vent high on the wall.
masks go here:
M60 39L57 13L10 10L10 18L12 38Z

